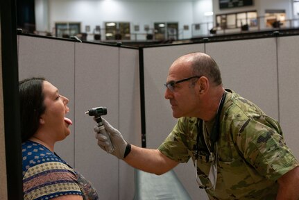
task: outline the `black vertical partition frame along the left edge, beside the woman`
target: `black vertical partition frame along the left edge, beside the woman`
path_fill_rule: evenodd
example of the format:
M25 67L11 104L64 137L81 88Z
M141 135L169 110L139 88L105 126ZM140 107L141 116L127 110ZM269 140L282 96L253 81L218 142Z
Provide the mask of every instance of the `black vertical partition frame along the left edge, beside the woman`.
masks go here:
M1 1L1 60L7 199L23 199L15 1ZM2 188L3 189L3 188Z

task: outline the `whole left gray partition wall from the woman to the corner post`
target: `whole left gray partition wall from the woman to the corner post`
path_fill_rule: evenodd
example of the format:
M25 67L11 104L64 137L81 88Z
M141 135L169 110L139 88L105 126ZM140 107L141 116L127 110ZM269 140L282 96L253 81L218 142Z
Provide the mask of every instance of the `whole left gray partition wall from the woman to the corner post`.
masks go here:
M139 51L112 45L18 36L19 79L44 76L69 98L71 135L55 151L93 183L101 199L133 199L134 170L97 145L96 122L85 111L108 108L104 118L132 144L139 133Z

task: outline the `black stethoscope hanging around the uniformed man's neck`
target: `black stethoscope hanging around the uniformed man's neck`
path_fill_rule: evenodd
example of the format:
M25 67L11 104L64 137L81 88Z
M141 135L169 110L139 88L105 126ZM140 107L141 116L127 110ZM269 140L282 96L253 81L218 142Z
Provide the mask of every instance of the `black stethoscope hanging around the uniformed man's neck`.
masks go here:
M195 151L195 176L196 176L196 182L198 183L200 189L210 190L212 188L215 188L215 185L216 185L216 180L217 180L217 176L216 176L217 175L217 159L216 158L218 156L217 140L220 135L219 134L220 133L220 115L221 115L221 110L223 108L223 104L225 101L225 97L226 97L226 92L224 91L221 101L219 103L214 126L213 126L211 134L210 134L211 148L209 148L209 146L207 145L207 142L205 140L205 135L203 134L203 120L198 119L196 151ZM211 163L210 171L214 170L214 173L213 172L209 173L209 179L212 178L212 181L210 179L210 182L212 183L211 186L203 185L201 183L200 178L198 177L198 173L197 173L197 160L198 160L199 151L200 151L199 144L200 143L203 144L203 142L205 142L205 146L206 146L205 151L209 152L205 156L205 162ZM216 148L214 148L215 145L216 145ZM216 149L216 151L214 152L215 149Z

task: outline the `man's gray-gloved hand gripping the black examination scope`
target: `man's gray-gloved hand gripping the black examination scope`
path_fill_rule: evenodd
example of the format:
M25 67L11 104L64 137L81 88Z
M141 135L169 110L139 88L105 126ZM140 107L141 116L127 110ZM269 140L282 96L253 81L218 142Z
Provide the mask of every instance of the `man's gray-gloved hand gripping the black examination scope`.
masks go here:
M110 135L112 146L114 147L114 151L111 154L123 160L123 158L128 156L128 153L130 153L130 144L123 139L123 135L121 135L119 130L111 126L105 119L102 118L102 120L108 135ZM96 132L96 139L98 139L98 144L101 149L107 149L105 147L111 145L107 142L108 138L100 133L99 126L94 126L94 131Z

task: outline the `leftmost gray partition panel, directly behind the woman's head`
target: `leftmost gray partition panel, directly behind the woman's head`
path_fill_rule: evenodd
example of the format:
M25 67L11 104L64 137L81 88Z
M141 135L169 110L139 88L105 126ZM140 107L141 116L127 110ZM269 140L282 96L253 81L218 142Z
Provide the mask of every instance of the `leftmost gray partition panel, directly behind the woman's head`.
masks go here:
M43 76L69 98L68 117L74 120L75 42L18 36L19 80ZM74 126L71 135L55 145L55 151L74 166Z

